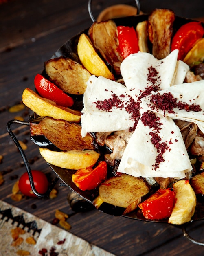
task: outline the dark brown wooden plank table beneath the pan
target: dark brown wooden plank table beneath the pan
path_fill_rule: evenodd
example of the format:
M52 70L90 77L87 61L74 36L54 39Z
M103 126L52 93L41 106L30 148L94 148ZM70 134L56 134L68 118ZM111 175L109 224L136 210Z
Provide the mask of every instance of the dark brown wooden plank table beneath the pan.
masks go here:
M104 2L95 1L93 4L96 16L108 4L118 3L116 0ZM142 3L142 10L145 11ZM3 156L0 171L4 177L0 199L48 222L52 222L56 209L73 213L67 201L69 189L56 185L58 196L53 200L11 200L13 184L25 172L25 167L7 133L6 124L19 115L27 121L31 112L24 109L11 113L9 107L21 101L24 88L34 88L34 76L42 71L44 61L68 38L92 24L87 5L87 0L13 0L0 5L0 155ZM28 148L25 153L31 168L44 171L50 178L55 177L40 157L38 147L30 141L29 128L13 125L13 131L18 139L26 142ZM201 256L204 253L204 247L191 243L184 238L180 228L171 225L113 217L97 210L72 215L69 223L72 234L117 256ZM202 221L194 222L189 225L188 231L193 238L204 241L203 226Z

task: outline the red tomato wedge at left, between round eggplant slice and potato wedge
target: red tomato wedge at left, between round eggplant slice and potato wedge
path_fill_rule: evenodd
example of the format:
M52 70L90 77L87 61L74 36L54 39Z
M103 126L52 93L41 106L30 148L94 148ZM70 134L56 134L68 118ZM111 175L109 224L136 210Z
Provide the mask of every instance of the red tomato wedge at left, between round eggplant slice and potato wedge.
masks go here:
M44 98L55 101L57 105L71 107L74 104L72 97L68 96L63 90L42 75L37 74L34 79L37 92Z

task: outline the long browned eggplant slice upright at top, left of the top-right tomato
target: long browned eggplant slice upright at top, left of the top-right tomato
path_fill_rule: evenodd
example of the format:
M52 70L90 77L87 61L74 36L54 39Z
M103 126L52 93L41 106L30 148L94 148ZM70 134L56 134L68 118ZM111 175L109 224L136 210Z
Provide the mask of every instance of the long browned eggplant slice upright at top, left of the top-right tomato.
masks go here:
M152 43L152 54L163 59L171 52L171 37L175 14L169 9L154 9L148 18L148 34Z

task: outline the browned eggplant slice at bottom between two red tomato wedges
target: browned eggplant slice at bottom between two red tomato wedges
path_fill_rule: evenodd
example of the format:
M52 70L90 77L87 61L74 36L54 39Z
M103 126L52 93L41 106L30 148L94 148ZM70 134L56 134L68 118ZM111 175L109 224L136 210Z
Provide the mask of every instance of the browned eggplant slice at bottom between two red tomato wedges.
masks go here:
M136 209L141 197L148 192L149 186L142 178L125 173L111 177L99 186L101 200L115 206L129 208L130 211ZM125 211L125 213L128 212Z

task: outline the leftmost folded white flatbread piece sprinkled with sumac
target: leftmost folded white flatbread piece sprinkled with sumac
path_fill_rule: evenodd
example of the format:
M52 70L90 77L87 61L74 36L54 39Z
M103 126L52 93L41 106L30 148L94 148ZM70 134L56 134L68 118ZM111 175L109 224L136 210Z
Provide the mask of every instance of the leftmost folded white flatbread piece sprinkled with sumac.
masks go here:
M123 101L123 107L113 107L111 110L97 108L97 101L112 99L113 95ZM124 97L121 97L123 95ZM87 132L113 132L133 127L134 120L125 110L130 102L129 90L122 85L103 76L90 76L84 93L81 116L81 135Z

